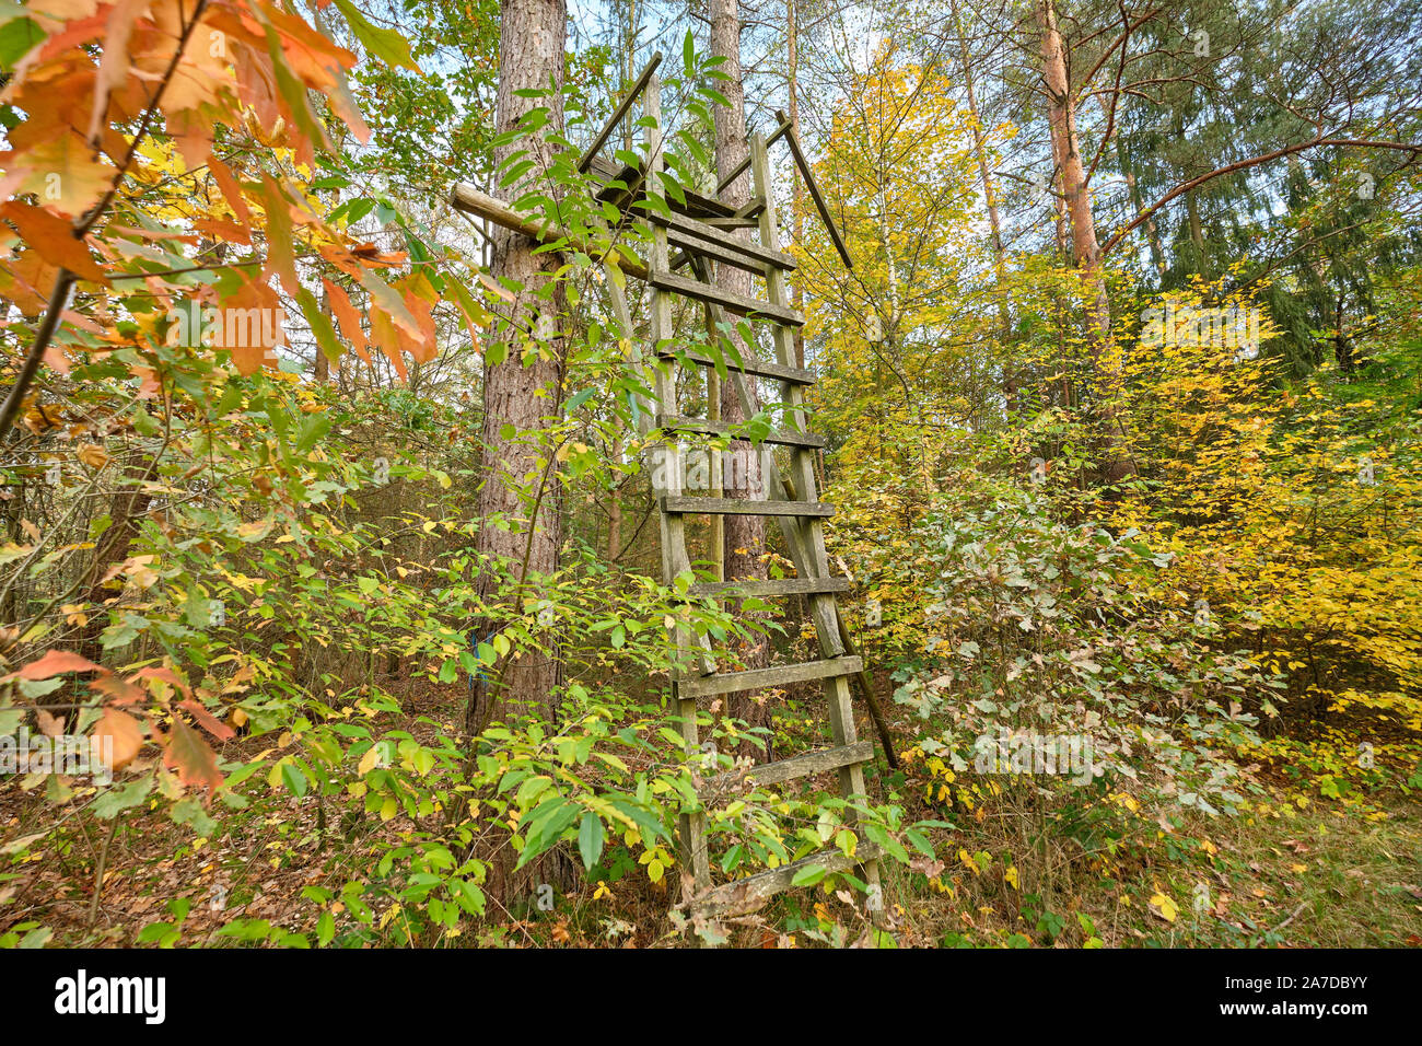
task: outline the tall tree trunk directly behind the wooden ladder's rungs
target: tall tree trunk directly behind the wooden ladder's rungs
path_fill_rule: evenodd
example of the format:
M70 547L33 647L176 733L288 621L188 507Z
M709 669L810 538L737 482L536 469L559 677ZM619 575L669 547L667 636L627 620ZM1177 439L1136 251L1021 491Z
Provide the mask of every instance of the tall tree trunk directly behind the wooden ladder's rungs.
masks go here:
M718 84L728 105L714 108L715 118L715 164L718 178L725 178L731 169L749 155L749 144L745 137L745 87L741 83L741 10L738 0L711 0L711 53L725 58L721 71L729 80ZM721 196L732 206L742 206L749 202L749 175L742 172L732 181ZM744 229L737 235L747 236ZM734 266L721 265L717 270L717 282L738 295L751 295L751 275ZM755 346L747 346L737 339L737 350L742 356L755 354ZM755 396L755 381L747 379L752 397ZM752 406L758 407L758 403ZM721 389L721 417L727 421L745 421L745 410L735 393L735 381L724 381ZM729 498L758 498L764 497L764 481L761 478L761 458L755 447L749 443L735 441L731 453L737 455L732 475L738 482L729 484L725 495ZM728 515L725 517L724 559L725 576L729 581L748 578L765 578L765 517L757 515ZM748 667L764 667L769 663L769 650L765 642L745 650L744 657ZM751 726L764 726L769 722L769 709L758 704L749 694L731 694L727 710L737 719L744 719ZM758 754L748 751L747 754Z

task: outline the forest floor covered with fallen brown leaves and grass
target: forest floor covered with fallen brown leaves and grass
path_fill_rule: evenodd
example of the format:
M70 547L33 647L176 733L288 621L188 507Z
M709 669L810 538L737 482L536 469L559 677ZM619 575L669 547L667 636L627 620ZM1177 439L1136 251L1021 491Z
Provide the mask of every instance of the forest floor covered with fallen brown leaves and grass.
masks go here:
M432 687L421 716L455 722L464 692ZM407 729L417 730L411 723ZM392 724L394 726L394 724ZM867 723L865 729L870 729ZM431 727L422 727L428 731ZM872 734L863 734L872 736ZM273 746L243 737L222 756L246 760ZM937 817L923 803L926 778L910 763L870 788L894 791L914 817ZM14 838L51 821L44 788L0 790L0 833ZM921 808L914 810L914 805ZM255 801L216 840L156 815L131 811L111 840L77 804L50 828L47 845L0 874L0 934L37 921L55 945L230 945L219 931L257 919L310 935L320 914L303 891L338 891L368 871L375 842L410 828L404 818L326 824L309 794L284 790ZM886 921L899 946L1422 946L1422 804L1388 790L1365 804L1310 801L1280 784L1274 801L1239 817L1194 815L1135 838L1112 852L1062 845L1065 828L1032 810L1000 808L964 817L934 840L943 868L886 870ZM1169 831L1166 830L1169 828ZM630 852L609 847L610 879L587 879L556 899L491 908L478 928L461 924L438 946L675 946L668 908L673 877L650 882ZM95 878L102 858L102 894ZM796 891L731 926L741 946L816 946L876 939L848 894ZM336 944L405 944L391 926L398 907L377 908L377 929L340 932ZM146 929L145 929L146 928ZM387 938L388 934L388 938ZM877 935L880 944L889 938Z

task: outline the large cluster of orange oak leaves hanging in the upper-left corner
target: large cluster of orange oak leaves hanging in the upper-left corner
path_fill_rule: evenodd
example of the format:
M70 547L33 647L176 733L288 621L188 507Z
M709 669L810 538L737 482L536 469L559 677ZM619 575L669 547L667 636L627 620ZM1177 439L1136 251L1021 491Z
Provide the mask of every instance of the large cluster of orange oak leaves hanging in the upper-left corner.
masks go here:
M283 0L28 6L43 36L0 93L23 117L0 152L0 192L13 198L0 208L0 296L34 320L74 280L94 287L61 313L64 323L47 334L53 343L36 342L36 356L43 347L44 361L64 369L64 347L75 343L105 352L183 337L229 350L250 374L276 364L280 340L233 343L209 324L176 329L173 317L256 309L267 332L280 322L266 320L296 302L334 357L344 346L303 276L324 280L346 342L364 359L370 342L401 371L405 353L434 356L428 279L392 285L377 275L408 259L354 241L300 184L317 151L334 151L314 108L320 100L358 141L370 128L346 83L356 56L294 11ZM354 28L374 33L365 23ZM219 127L228 128L220 138ZM191 208L172 206L171 192L151 194L175 184L189 186ZM337 292L327 265L348 278ZM172 279L199 269L222 279L201 287ZM370 337L351 287L368 296ZM138 333L114 333L124 309L149 317Z

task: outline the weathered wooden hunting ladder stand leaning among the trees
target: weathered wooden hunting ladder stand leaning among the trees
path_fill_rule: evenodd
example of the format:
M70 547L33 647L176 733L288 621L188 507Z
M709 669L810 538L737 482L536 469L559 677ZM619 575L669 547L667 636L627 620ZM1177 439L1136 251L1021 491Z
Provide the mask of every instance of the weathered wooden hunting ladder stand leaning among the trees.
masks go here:
M779 127L769 138L759 134L751 137L748 161L721 179L718 186L720 192L749 167L752 179L749 205L738 209L715 196L685 189L683 194L685 204L678 204L660 191L664 162L660 81L656 75L660 61L660 54L653 57L633 90L623 98L602 132L583 154L580 168L583 172L592 174L602 185L597 192L600 201L611 201L617 205L624 221L646 222L644 228L650 233L650 252L646 259L629 258L627 248L619 246L617 265L624 273L644 279L650 292L647 340L658 359L651 361L650 370L654 373L650 374L648 384L654 387L657 404L656 408L650 404L640 404L641 408L637 413L638 433L643 437L654 430L660 430L665 437L660 448L664 455L661 467L654 470L654 477L660 482L654 482L653 488L660 509L663 581L671 585L678 576L693 569L687 551L685 518L688 515L774 517L779 524L798 576L774 581L705 581L694 583L690 595L717 599L803 596L808 601L820 655L819 659L802 665L721 672L711 656L710 640L705 636L693 636L690 629L677 626L674 629L675 643L680 649L694 655L691 660L695 669L674 673L671 683L674 712L688 750L697 751L701 747L697 727L698 699L819 680L823 686L833 746L752 767L745 773L745 777L758 786L775 786L809 774L833 771L839 777L839 791L845 798L862 798L865 796L863 767L873 760L875 750L870 741L859 740L856 736L850 703L852 677L857 677L880 734L887 737L887 730L875 703L863 660L853 649L835 599L836 592L849 588L849 581L829 575L823 519L833 514L833 507L818 501L813 468L815 451L825 447L825 440L809 433L805 424L805 389L815 383L815 377L809 370L795 366L795 330L805 323L805 319L791 307L786 293L786 273L795 269L795 259L784 253L779 245L766 158L771 142L778 138L786 139L830 238L846 265L849 265L849 255L815 186L799 142L795 141L793 130L784 114L776 114ZM602 159L597 152L619 122L630 112L638 95L643 98L643 115L650 118L644 120L646 158L640 167L610 164ZM646 192L660 195L665 201L667 209L657 206L630 211L631 204L641 199ZM538 225L528 216L510 211L499 201L468 185L456 185L451 199L462 211L519 229L538 239L572 239L562 229ZM732 235L731 231L737 228L757 229L759 242ZM576 243L576 239L573 242ZM675 255L671 253L673 248L675 248ZM747 297L715 286L711 282L712 262L731 265L762 278L766 300ZM694 276L680 275L678 269L683 268L688 268ZM629 342L636 344L631 313L621 290L621 282L609 279L607 286L616 319ZM735 427L718 420L687 417L677 410L677 353L670 347L657 350L657 346L670 346L671 343L671 303L673 296L677 295L702 303L712 342L722 337L718 332L729 330L728 313L769 324L775 346L774 361L755 359L754 343L747 344L739 361L734 359L734 353L728 353L724 360L728 380L732 383L747 417L754 417L757 413L755 398L747 377L755 376L779 384L781 404L784 404L782 421L779 423L782 427L768 433L757 450L768 495L765 500L687 497L684 494L681 441L688 435L725 437L734 434ZM724 340L722 344L725 344ZM717 360L700 353L681 352L680 356L702 367L717 364ZM782 475L772 445L788 448L788 475ZM890 763L894 761L893 750L887 743L886 756ZM852 808L846 820L852 825L855 820ZM869 884L872 901L877 899L879 850L863 838L860 838L853 857L846 857L836 848L826 848L792 864L715 885L711 879L704 815L700 813L683 815L678 834L683 867L690 871L694 879L693 909L697 914L721 916L754 911L774 894L792 887L796 874L812 865L818 865L826 872L853 871ZM870 904L870 907L875 905Z

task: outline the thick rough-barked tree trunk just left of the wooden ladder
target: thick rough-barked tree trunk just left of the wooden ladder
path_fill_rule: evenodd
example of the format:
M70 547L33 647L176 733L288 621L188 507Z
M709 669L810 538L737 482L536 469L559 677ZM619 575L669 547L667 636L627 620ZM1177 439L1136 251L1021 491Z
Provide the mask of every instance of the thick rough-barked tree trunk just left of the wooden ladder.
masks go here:
M501 19L499 134L512 131L538 105L547 107L549 124L562 131L567 21L563 0L503 0ZM550 84L555 93L545 98L516 94ZM529 149L535 167L519 182L495 188L495 195L503 201L513 201L526 192L552 161L552 148L540 138L503 145L495 151L495 161L502 164L519 149ZM483 376L483 485L479 488L483 527L476 549L485 564L479 589L486 601L496 599L496 568L492 564L510 564L520 578L557 568L557 482L552 470L543 467L552 448L540 445L538 434L556 417L562 403L565 346L559 323L565 296L560 289L546 300L539 296L560 259L553 253L535 255L535 246L522 233L502 226L493 231L491 268L495 276L516 280L522 290L513 302L502 306L513 324L506 336L506 356L486 367ZM533 336L536 349L528 344L528 334ZM526 366L525 354L533 356ZM512 527L491 525L495 518L508 519ZM485 636L476 638L482 640ZM557 655L552 638L547 639L545 649L525 652L495 666L491 673L491 679L496 680L493 685L475 687L466 716L471 730L482 730L495 714L515 712L540 714L547 722L556 719L553 687L557 682Z

